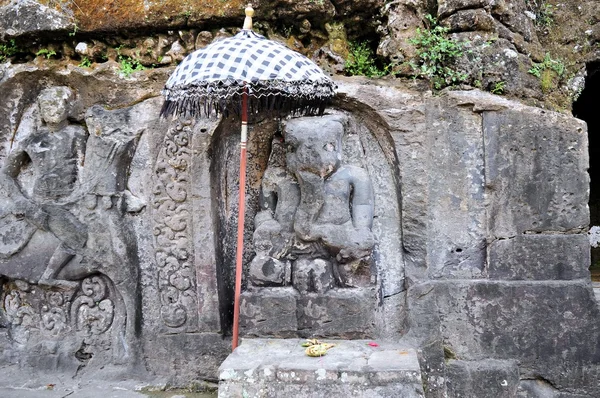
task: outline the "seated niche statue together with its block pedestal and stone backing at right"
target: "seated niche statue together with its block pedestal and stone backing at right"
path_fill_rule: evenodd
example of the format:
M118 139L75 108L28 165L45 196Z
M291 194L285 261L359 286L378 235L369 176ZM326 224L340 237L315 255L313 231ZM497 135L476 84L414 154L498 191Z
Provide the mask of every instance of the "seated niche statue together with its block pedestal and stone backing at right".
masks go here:
M273 136L254 219L256 255L242 293L242 333L385 334L376 325L385 323L385 277L403 269L389 253L401 242L400 211L392 168L369 136L343 112L289 119ZM395 217L386 225L383 213Z

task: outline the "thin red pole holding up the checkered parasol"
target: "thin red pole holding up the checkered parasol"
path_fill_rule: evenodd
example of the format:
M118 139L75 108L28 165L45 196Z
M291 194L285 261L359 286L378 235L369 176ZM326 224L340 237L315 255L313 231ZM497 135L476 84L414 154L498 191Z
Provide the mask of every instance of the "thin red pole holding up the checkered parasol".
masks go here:
M242 93L242 134L240 138L240 200L238 205L238 239L235 255L235 296L233 300L232 351L238 346L240 329L240 294L242 292L242 261L244 254L244 215L246 213L246 141L248 140L248 92Z

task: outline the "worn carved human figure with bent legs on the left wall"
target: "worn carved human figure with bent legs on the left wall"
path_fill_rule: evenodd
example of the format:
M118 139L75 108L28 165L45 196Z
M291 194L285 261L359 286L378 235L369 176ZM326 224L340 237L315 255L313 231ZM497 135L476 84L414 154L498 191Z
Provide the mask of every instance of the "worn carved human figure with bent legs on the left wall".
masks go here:
M87 241L86 226L70 211L87 138L83 127L67 120L73 99L68 87L52 87L40 93L37 104L41 123L27 125L29 131L23 132L23 139L0 173L9 199L8 212L34 228L51 232L60 241L39 281L47 285L71 285L55 276ZM27 196L18 177L29 162L34 181L32 193ZM31 233L25 235L22 240Z

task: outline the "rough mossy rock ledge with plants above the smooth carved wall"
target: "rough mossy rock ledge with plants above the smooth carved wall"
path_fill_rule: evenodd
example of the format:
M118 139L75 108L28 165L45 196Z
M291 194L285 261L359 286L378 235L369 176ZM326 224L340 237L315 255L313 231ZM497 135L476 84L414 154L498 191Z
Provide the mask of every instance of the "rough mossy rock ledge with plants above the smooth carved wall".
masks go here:
M215 38L235 34L243 6L239 1L4 0L0 61L62 60L84 67L116 61L125 71L123 61L135 68L165 67ZM440 59L437 69L449 67L456 77L436 89L479 88L560 112L571 110L583 90L586 65L600 59L595 1L278 0L254 6L258 32L332 74L350 74L346 63L358 57L365 68L353 73L423 78L419 65L429 57L430 66ZM422 47L419 32L432 32L435 24L447 34ZM460 43L461 54L448 56L445 42L438 41L442 37ZM367 52L353 53L361 43ZM438 72L429 77L435 80Z

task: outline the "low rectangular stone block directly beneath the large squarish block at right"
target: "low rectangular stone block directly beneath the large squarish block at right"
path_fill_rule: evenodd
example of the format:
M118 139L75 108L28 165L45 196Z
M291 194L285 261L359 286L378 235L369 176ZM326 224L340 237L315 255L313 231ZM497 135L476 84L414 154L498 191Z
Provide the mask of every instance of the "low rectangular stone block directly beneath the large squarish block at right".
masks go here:
M587 236L517 235L488 246L491 279L569 280L589 278Z

